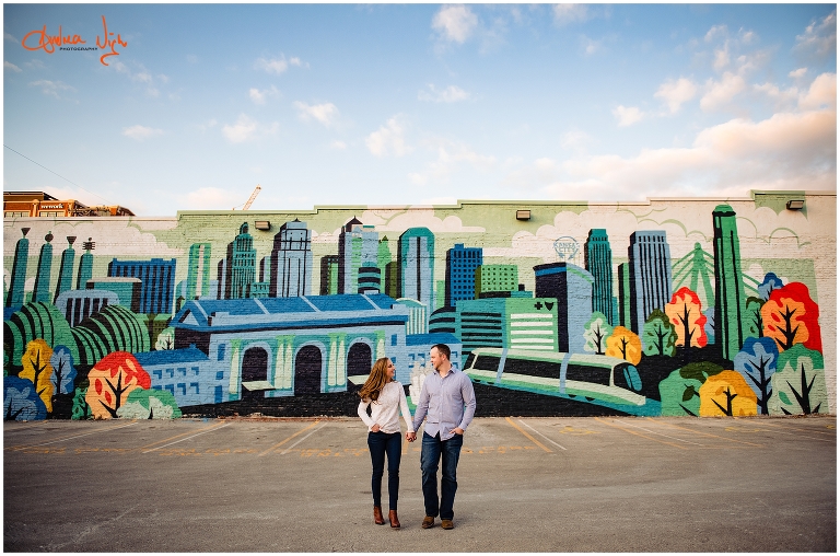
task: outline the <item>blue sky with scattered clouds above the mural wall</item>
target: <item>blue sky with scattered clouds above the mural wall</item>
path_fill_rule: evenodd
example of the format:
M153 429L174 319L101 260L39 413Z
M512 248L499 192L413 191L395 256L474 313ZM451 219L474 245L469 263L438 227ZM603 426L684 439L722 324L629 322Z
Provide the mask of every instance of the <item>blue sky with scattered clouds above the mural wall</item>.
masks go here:
M147 217L836 190L837 8L4 3L3 144Z

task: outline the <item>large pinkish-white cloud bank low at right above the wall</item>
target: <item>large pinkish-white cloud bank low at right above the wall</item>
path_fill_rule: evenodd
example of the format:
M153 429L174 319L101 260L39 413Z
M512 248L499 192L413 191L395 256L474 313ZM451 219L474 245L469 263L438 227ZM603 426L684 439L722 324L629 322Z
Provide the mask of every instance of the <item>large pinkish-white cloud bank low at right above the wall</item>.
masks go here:
M814 97L830 97L815 82ZM732 119L703 129L690 147L642 150L635 157L540 160L509 176L553 198L744 196L749 189L836 190L837 113L786 112L752 121ZM638 195L637 198L641 198Z

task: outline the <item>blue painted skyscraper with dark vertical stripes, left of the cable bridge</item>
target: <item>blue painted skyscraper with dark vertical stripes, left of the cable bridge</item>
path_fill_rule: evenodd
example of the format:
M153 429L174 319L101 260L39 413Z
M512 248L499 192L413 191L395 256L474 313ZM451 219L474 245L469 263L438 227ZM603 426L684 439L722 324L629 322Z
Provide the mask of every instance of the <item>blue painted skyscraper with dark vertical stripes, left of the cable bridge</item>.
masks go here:
M630 328L641 334L653 310L664 311L670 301L670 247L665 232L633 232L627 256L630 259Z

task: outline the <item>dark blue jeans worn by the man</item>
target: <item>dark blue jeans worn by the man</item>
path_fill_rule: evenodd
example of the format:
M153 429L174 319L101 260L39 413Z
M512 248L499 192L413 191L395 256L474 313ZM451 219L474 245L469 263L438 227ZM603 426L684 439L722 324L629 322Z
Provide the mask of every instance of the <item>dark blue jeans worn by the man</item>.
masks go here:
M423 448L420 451L420 471L423 480L423 503L425 514L436 518L440 511L441 519L451 520L455 513L452 507L455 505L455 490L458 482L455 472L458 467L460 447L464 445L464 437L455 435L448 440L441 440L440 435L430 437L423 432ZM441 499L438 501L438 462L442 460L441 470Z

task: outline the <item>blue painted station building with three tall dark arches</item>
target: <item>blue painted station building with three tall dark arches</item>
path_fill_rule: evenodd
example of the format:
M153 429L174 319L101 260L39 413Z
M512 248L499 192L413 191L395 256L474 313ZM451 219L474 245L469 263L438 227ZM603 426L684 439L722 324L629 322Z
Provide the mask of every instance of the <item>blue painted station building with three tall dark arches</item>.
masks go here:
M408 308L384 294L188 301L172 321L175 349L195 346L225 382L223 401L347 390L390 357L408 382ZM221 377L220 377L221 375Z

